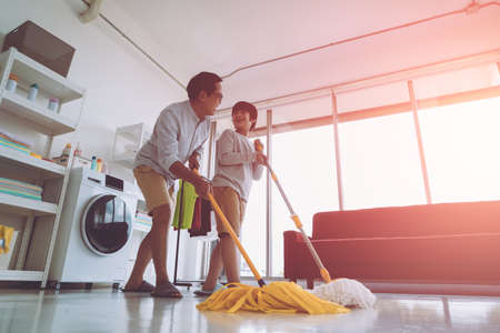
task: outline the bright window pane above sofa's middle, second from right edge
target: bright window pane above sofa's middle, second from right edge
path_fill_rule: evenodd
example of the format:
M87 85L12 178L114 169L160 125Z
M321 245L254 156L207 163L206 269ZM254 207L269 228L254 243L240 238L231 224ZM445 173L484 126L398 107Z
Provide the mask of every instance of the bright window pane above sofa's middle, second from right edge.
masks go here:
M346 209L426 203L411 112L339 124Z

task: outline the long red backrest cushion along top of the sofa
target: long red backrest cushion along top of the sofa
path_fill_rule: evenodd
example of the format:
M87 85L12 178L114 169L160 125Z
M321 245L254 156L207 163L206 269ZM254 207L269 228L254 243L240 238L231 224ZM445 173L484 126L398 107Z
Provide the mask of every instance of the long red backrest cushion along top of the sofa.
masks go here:
M320 212L312 239L420 236L500 232L500 201Z

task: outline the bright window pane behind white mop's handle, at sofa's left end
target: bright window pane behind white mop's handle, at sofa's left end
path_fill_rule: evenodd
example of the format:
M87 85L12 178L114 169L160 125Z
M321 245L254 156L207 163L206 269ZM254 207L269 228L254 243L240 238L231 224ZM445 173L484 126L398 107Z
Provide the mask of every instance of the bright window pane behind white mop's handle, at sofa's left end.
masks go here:
M309 235L312 215L338 210L331 125L274 134L272 168ZM272 188L272 275L283 276L283 231L297 230L278 188Z

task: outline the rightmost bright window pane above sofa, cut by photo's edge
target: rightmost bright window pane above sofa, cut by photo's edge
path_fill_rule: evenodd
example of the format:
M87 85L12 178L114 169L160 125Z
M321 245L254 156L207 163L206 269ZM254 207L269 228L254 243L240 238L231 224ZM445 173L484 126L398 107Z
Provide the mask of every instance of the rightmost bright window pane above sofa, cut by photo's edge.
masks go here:
M500 199L500 98L419 112L432 202Z

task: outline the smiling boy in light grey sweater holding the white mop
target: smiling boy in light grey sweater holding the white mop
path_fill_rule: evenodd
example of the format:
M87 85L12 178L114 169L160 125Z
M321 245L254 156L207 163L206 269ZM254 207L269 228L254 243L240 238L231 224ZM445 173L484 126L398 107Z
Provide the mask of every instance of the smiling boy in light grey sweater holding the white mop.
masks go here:
M232 107L234 130L226 130L217 141L213 196L237 235L240 234L252 181L260 179L262 165L266 163L266 155L256 152L248 139L250 131L256 128L256 107L248 102L238 102ZM228 283L240 282L236 244L219 218L217 231L219 242L212 251L203 287L194 292L197 295L210 295L214 291L222 268Z

